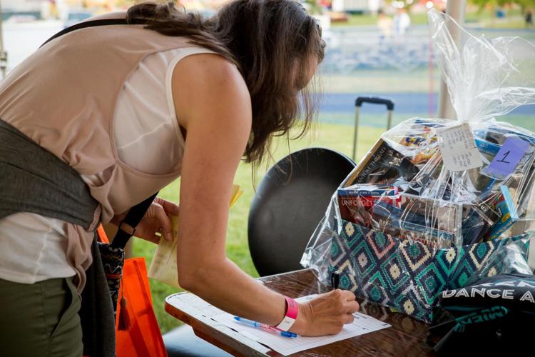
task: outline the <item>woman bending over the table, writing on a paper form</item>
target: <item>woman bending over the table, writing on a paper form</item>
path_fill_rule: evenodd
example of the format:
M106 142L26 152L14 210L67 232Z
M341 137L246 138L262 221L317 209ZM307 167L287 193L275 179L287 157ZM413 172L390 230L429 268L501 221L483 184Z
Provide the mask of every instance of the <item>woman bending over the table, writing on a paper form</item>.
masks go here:
M0 83L0 356L82 355L94 229L179 176L180 208L156 198L136 236L171 239L178 215L180 286L302 336L340 332L353 293L296 303L225 254L238 164L258 167L273 136L310 126L325 49L316 20L294 0L235 0L210 19L143 3L98 19L127 24L53 39Z

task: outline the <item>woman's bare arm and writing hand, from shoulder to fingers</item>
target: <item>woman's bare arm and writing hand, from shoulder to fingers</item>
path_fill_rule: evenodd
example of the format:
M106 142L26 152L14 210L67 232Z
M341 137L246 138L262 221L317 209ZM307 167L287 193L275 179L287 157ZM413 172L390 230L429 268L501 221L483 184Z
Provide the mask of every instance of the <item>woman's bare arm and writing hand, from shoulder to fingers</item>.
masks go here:
M180 285L228 313L276 326L285 316L284 296L255 281L225 254L232 183L250 136L247 86L223 57L199 54L175 67L173 99L187 130L178 215ZM291 331L337 333L357 309L352 293L333 291L300 304Z

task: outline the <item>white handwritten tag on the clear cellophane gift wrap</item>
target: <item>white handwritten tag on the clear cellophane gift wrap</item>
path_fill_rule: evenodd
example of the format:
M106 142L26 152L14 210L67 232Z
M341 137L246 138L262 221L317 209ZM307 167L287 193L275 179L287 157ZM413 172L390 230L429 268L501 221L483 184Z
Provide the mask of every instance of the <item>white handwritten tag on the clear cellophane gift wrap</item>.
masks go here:
M437 132L444 166L449 171L464 171L483 166L470 125L464 123Z

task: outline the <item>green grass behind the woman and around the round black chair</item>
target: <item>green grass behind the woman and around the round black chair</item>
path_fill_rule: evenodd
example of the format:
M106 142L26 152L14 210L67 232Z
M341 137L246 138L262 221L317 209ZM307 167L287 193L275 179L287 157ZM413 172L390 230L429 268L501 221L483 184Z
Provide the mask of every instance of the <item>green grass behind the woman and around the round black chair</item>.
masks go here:
M360 129L360 141L357 150L358 156L363 156L381 133L382 129L379 128L362 127ZM287 142L284 139L277 139L277 141L275 141L275 146L276 148L272 154L273 159L282 159L282 157L289 153ZM349 156L352 150L352 126L317 124L315 129L312 130L312 135L290 142L291 151L310 146L322 146L335 149ZM258 182L260 182L265 173L265 169L262 171L263 172L258 174ZM236 202L230 210L227 230L227 255L237 263L243 271L256 277L258 276L258 273L253 266L253 261L251 261L247 241L249 207L255 194L251 179L250 165L240 164L238 171L236 172L235 183L239 184L244 192L238 202ZM161 191L161 196L171 201L178 202L179 187L180 182L175 181ZM152 243L136 239L134 255L144 256L147 260L147 266L149 266L155 248L156 246ZM158 319L162 333L165 333L180 324L178 320L168 315L168 313L165 313L163 308L165 297L177 292L177 289L159 283L158 281L149 280L151 283L156 318Z

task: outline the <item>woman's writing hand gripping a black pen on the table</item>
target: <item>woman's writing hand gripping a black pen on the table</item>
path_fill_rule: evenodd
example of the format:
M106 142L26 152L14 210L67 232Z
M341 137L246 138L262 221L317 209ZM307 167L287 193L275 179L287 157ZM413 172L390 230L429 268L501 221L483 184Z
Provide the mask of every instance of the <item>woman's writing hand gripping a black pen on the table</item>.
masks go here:
M345 323L353 322L359 310L355 294L335 289L299 303L299 313L290 331L302 336L323 336L339 333Z

